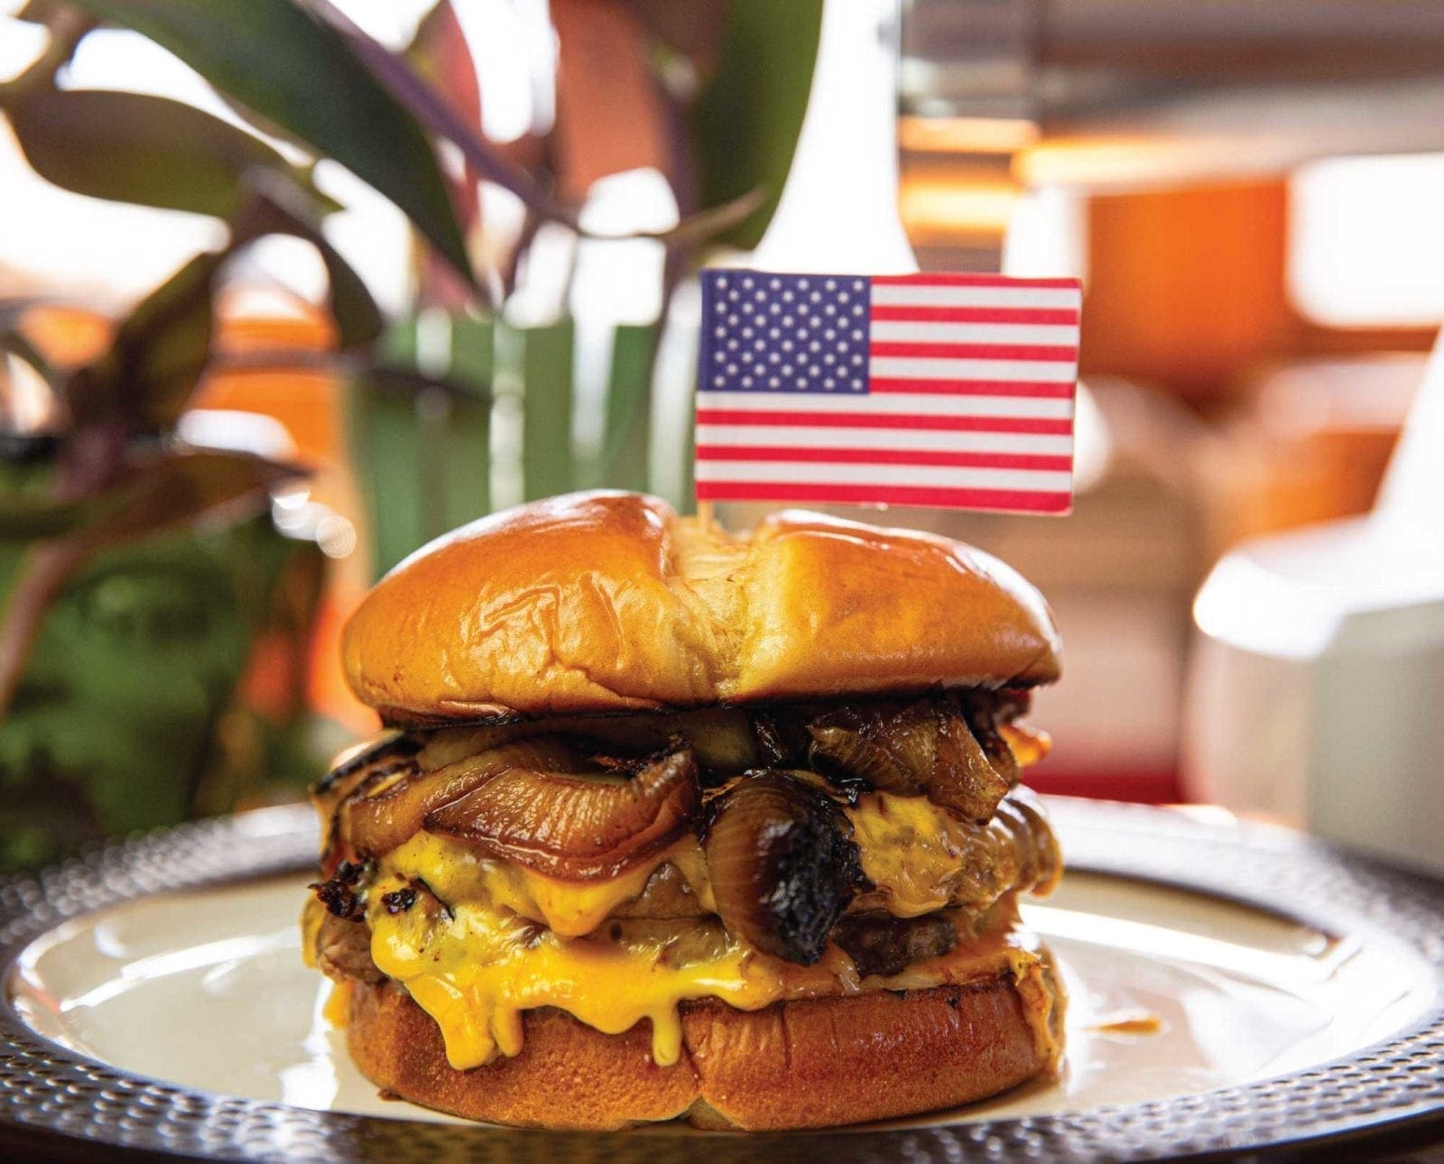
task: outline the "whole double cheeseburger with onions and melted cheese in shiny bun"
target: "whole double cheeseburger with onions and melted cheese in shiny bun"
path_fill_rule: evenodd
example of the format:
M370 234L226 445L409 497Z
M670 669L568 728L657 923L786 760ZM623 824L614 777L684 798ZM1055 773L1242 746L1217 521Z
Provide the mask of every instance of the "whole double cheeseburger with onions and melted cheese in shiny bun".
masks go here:
M309 957L357 1066L472 1119L814 1128L1054 1070L1018 924L1058 854L1018 724L1047 605L941 537L559 497L345 631L388 734L316 789Z

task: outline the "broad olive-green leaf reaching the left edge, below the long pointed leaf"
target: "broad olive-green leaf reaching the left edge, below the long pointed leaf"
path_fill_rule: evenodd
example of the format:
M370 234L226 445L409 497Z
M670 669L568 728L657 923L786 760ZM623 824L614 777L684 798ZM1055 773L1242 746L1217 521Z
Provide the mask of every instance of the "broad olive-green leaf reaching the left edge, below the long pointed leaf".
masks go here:
M26 160L48 182L91 198L230 218L244 176L287 173L339 209L258 137L180 101L139 92L45 88L9 110Z

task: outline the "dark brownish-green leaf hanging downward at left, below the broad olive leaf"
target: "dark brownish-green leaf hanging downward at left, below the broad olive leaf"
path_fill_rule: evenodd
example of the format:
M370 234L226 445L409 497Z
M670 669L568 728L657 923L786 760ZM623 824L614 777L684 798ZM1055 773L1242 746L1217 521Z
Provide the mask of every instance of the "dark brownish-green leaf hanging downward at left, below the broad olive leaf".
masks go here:
M175 425L211 355L211 286L225 251L198 254L146 296L110 351L66 386L78 426L123 419L137 432Z

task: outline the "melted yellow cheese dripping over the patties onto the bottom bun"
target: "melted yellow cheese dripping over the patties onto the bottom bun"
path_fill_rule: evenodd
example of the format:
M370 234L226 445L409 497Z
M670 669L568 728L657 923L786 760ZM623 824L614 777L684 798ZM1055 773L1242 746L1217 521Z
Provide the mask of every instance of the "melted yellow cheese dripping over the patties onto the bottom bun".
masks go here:
M969 845L992 849L1005 841L1002 832L989 833L993 826L959 822L926 797L869 794L846 813L865 874L898 916L944 908L979 864L967 858ZM995 859L989 852L988 861ZM663 864L680 872L697 916L614 917ZM953 911L959 946L952 953L895 978L866 979L866 988L936 986L1004 970L1022 981L1038 962L1012 929L1012 888L1025 872L1005 869L985 901ZM419 882L430 892L410 908L387 908L386 894ZM653 1059L670 1066L682 1053L684 1001L718 998L751 1011L864 989L836 946L817 965L799 966L749 949L705 917L713 910L712 891L690 836L621 877L566 882L423 832L383 858L367 903L373 962L436 1020L458 1069L517 1054L521 1015L537 1007L557 1007L606 1034L648 1020Z

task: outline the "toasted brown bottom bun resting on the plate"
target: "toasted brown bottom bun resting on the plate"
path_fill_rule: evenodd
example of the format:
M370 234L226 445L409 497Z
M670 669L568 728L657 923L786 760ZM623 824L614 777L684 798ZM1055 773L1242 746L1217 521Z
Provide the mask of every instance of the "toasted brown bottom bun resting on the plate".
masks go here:
M511 1059L459 1072L440 1030L391 983L354 983L348 1044L373 1083L468 1119L614 1129L825 1128L970 1103L1048 1073L1061 1005L1044 966L960 986L875 991L738 1011L684 1004L682 1059L658 1067L643 1021L602 1034L529 1011Z

